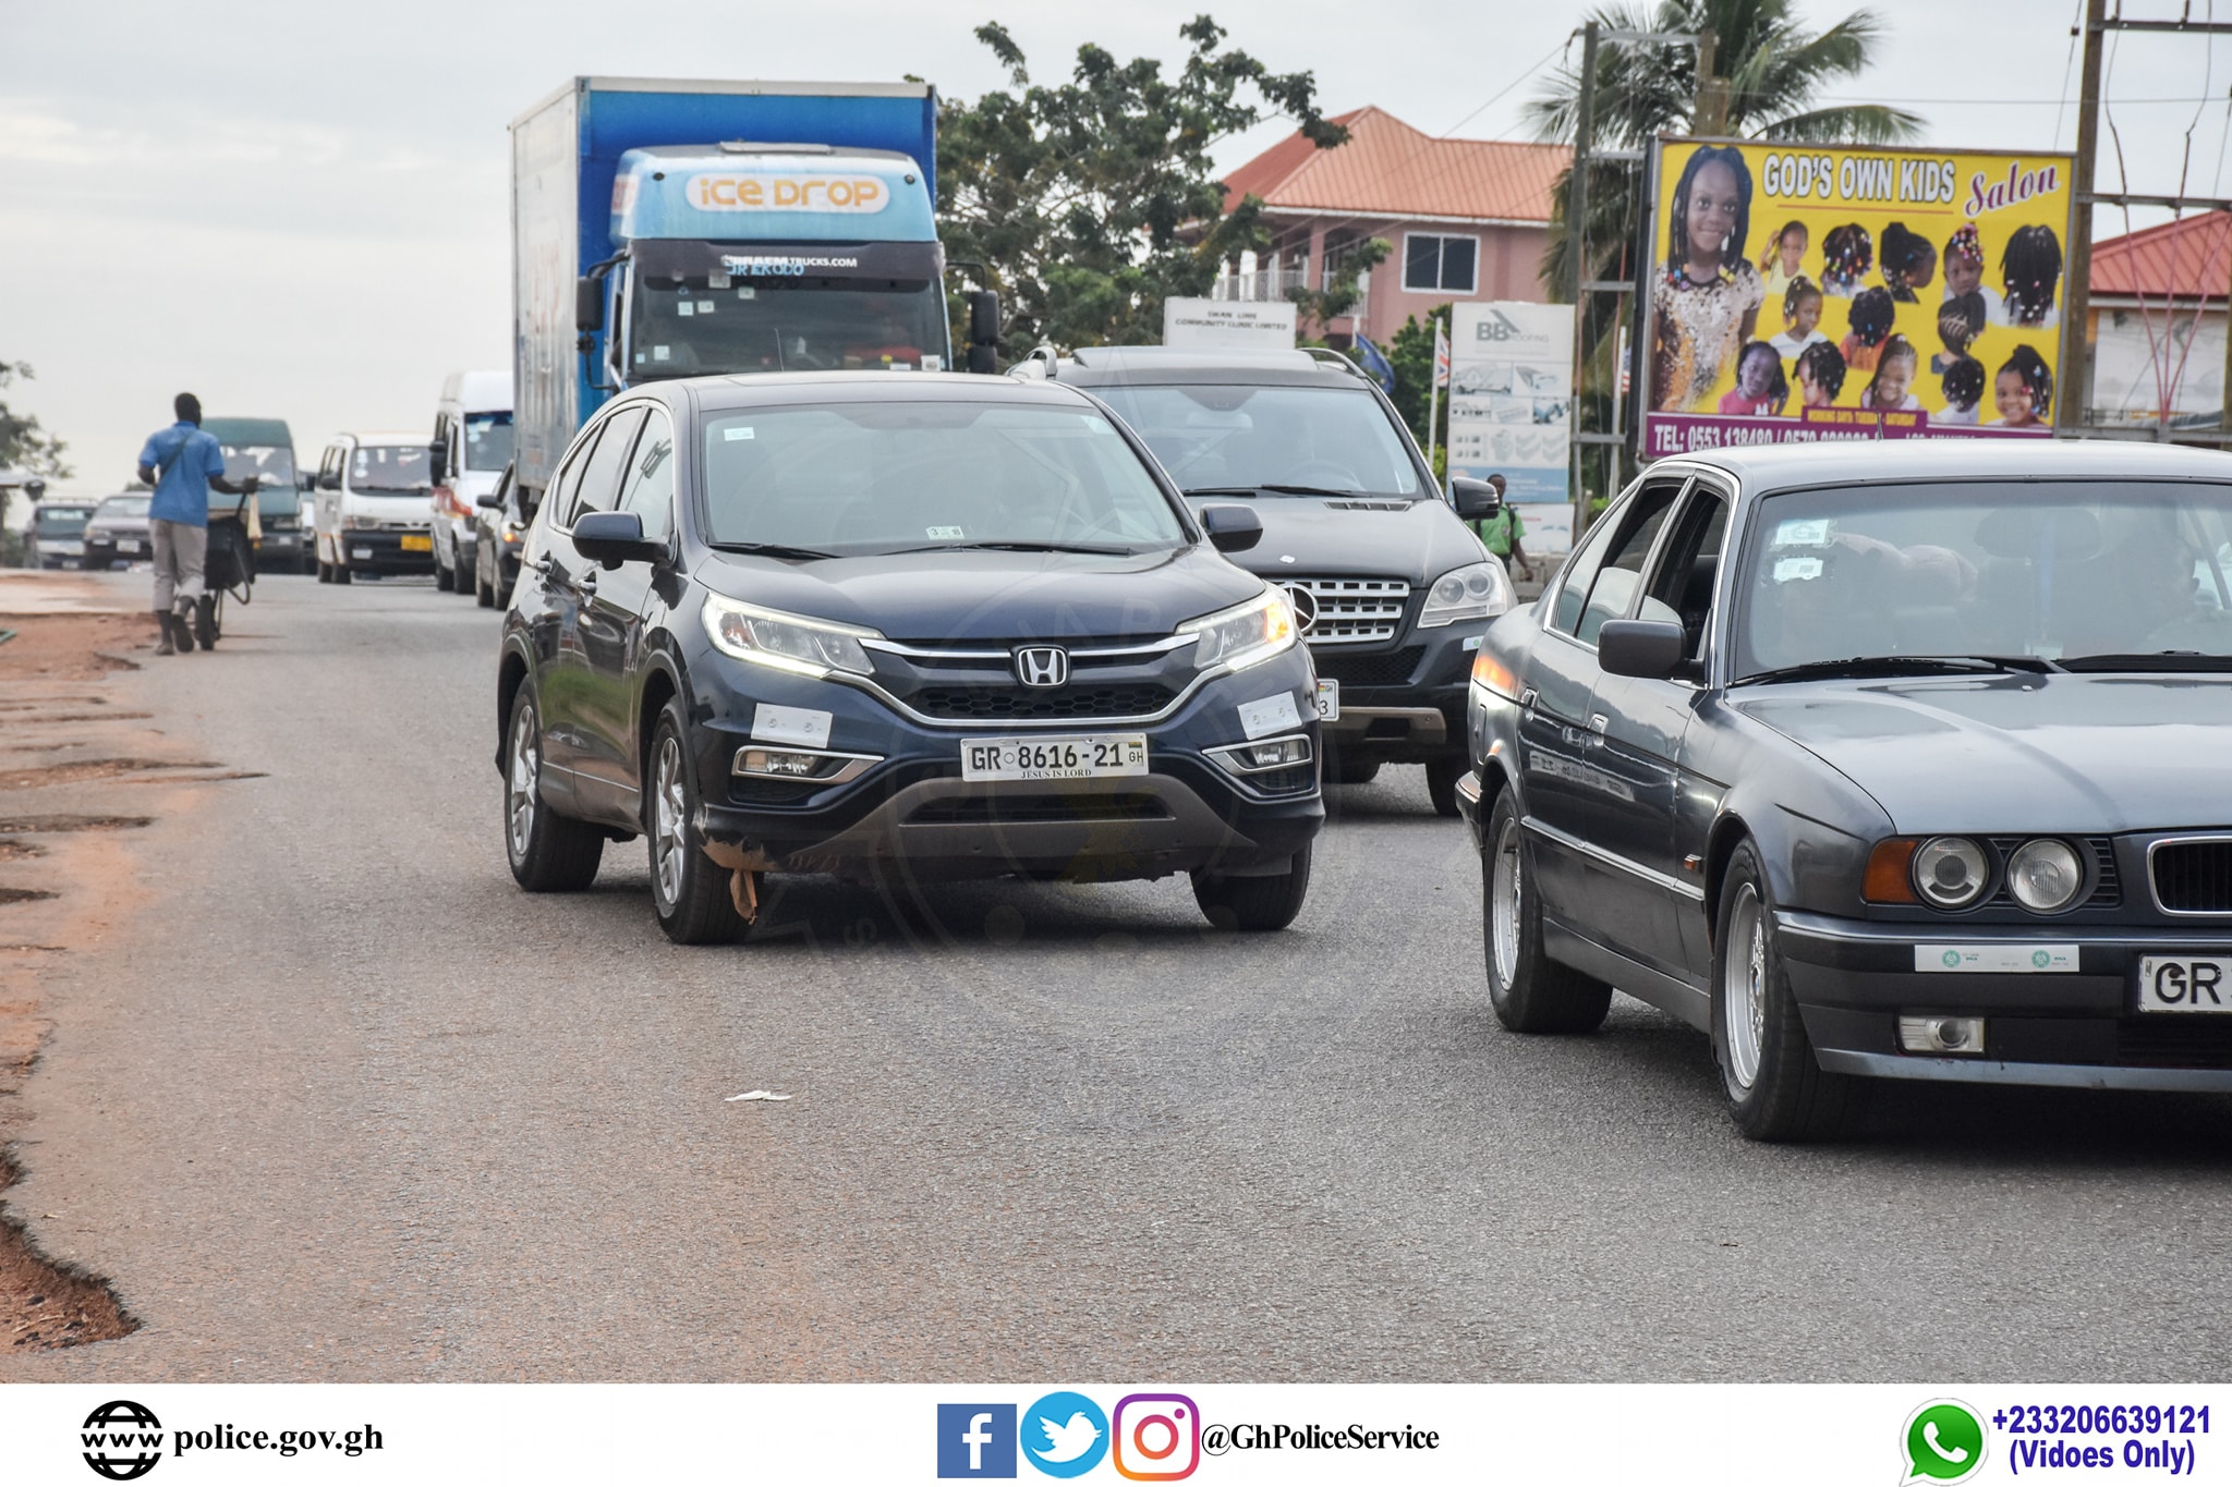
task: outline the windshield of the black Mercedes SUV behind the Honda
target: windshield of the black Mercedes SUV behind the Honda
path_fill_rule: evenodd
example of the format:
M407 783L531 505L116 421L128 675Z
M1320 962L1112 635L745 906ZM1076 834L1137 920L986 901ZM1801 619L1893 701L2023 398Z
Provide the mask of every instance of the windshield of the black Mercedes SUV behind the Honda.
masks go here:
M1094 392L1147 441L1181 490L1422 493L1411 450L1364 388L1123 386Z

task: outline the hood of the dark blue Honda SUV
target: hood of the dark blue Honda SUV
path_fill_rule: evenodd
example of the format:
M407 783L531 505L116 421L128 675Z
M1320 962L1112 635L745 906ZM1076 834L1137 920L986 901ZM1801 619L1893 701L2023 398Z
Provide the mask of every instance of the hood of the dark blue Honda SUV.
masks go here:
M1208 544L1136 557L895 553L777 562L708 553L694 577L732 600L924 644L1149 640L1263 591L1261 580Z

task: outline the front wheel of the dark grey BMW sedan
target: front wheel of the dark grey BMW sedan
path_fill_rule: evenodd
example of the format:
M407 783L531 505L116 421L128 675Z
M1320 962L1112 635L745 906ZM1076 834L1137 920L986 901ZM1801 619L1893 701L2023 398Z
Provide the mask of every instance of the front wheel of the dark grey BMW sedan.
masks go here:
M1783 956L1774 903L1752 843L1736 847L1712 936L1712 1052L1736 1130L1754 1141L1824 1141L1844 1133L1859 1081L1815 1059Z

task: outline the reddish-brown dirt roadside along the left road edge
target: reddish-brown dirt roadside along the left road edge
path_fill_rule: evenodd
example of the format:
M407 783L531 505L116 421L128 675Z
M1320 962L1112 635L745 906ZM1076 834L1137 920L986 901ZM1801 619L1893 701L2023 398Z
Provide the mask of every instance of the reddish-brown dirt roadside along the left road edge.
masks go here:
M49 1262L29 1231L67 1222L9 1202L22 1088L54 1023L42 981L145 901L129 838L212 778L134 707L154 622L76 575L0 573L0 1349L121 1338L138 1322L107 1280Z

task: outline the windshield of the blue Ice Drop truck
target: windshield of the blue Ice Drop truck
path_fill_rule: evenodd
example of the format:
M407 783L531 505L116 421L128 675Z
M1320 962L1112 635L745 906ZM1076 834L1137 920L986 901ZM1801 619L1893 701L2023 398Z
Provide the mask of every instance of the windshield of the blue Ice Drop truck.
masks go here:
M877 281L884 285L891 281ZM946 325L937 285L862 290L846 279L768 281L725 290L658 288L629 294L629 377L705 372L828 372L839 368L944 370Z

